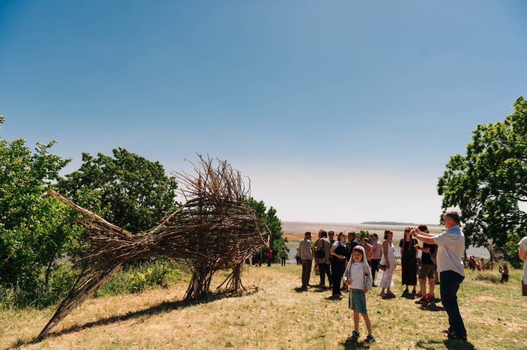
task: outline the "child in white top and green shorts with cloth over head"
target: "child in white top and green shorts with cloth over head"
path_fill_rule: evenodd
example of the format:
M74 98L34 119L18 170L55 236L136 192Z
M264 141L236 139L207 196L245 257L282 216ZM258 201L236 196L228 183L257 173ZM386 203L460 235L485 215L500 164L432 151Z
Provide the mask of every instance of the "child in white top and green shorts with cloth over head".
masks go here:
M352 339L359 337L359 315L362 315L368 329L368 336L365 342L373 343L375 338L372 335L372 323L369 321L366 310L366 293L368 293L368 289L372 287L373 283L372 272L367 264L366 252L362 246L354 247L351 255L343 277L344 283L349 288L348 306L353 310L353 326L355 330L351 337Z

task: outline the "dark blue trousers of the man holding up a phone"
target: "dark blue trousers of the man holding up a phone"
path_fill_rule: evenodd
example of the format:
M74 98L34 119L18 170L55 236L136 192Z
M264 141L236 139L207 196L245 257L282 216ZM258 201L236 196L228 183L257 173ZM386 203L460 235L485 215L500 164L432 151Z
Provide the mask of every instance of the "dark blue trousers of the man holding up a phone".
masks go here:
M452 270L442 271L439 276L441 279L441 303L443 303L448 315L450 330L457 336L465 337L466 329L463 318L461 318L460 308L457 305L457 290L465 277Z

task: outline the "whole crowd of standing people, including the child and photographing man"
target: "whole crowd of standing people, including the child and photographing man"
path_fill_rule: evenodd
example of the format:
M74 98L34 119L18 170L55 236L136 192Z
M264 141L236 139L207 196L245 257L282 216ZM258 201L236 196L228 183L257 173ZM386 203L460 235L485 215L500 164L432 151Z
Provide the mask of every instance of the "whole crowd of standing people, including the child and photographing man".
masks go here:
M418 296L416 303L419 304L432 303L437 301L434 292L435 286L439 284L441 302L449 323L444 332L450 338L466 340L466 329L457 305L457 291L464 279L465 238L457 212L446 212L443 221L446 231L439 235L430 234L426 225L405 228L404 237L399 241L401 280L405 286L403 295L412 298ZM419 245L418 241L423 244ZM419 251L422 253L420 259ZM395 297L392 288L398 262L393 232L386 230L382 243L377 234L360 237L359 242L353 231L347 234L340 232L336 237L333 231L326 232L323 229L316 237L306 232L299 242L297 264L302 265L302 290L310 287L331 289L329 298L333 299L340 299L343 291L349 292L348 307L353 310L354 320L351 337L359 337L359 319L362 317L368 332L365 342L374 342L366 294L370 288L379 287L380 297ZM312 268L319 276L316 285L309 284Z

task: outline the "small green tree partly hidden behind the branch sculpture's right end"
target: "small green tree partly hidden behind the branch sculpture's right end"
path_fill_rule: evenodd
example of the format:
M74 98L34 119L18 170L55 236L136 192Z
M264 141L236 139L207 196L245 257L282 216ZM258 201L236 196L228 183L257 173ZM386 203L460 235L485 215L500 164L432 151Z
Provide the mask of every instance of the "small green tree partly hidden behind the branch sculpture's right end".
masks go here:
M263 201L256 201L254 198L248 199L249 205L255 210L256 215L262 220L271 232L271 238L269 246L272 250L272 262L277 263L280 261L280 252L282 249L286 248L286 251L289 252L289 248L286 246L287 238L284 238L282 235L282 222L276 216L276 209L274 207L269 207L267 209ZM265 256L265 253L264 253Z

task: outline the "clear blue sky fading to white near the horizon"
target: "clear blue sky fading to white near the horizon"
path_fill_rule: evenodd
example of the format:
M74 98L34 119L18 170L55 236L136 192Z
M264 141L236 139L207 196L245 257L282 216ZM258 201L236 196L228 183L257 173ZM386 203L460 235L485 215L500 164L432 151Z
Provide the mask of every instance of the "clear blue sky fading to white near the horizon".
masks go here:
M400 3L400 4L399 4ZM229 159L286 221L437 223L527 92L525 1L0 1L1 135Z

